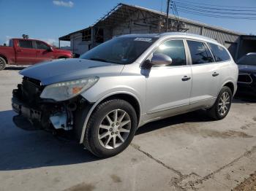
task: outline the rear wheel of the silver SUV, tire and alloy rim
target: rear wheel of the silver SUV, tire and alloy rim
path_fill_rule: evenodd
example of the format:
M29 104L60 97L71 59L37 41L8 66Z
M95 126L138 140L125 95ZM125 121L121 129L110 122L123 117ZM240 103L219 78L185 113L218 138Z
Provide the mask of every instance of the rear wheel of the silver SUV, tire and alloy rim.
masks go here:
M209 109L208 111L209 116L212 117L214 120L224 119L230 111L232 97L233 95L230 87L222 87L222 90L220 90L214 106L212 106L211 109Z

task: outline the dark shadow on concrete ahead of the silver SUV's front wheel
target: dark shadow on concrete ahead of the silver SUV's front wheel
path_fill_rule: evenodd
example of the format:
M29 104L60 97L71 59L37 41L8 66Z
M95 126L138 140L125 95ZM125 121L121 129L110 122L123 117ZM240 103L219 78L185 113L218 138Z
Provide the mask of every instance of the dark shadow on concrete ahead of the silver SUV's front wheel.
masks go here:
M14 115L11 110L0 112L0 171L99 160L77 141L56 139L43 130L26 131L15 127Z

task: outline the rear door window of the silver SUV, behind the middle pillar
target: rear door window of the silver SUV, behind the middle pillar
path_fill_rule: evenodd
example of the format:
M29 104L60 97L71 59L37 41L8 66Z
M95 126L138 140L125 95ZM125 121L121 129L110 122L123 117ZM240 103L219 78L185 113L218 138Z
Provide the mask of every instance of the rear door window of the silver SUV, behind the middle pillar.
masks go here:
M189 50L192 58L192 64L212 63L214 58L211 56L211 52L208 50L203 42L189 41Z

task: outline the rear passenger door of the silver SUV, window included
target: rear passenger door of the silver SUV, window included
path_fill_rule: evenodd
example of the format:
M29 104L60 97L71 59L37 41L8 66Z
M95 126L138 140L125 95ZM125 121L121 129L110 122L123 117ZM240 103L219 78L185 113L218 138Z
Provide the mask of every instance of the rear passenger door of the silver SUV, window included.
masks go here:
M192 62L192 91L190 104L211 106L219 93L219 66L205 42L187 40Z

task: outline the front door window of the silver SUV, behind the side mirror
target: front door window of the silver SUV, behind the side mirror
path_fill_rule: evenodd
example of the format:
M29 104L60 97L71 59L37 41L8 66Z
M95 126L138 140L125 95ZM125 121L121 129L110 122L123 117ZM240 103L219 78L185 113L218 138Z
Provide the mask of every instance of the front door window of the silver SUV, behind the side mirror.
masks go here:
M183 40L170 40L160 44L153 54L159 53L168 55L172 58L173 63L171 66L182 66L187 64Z

